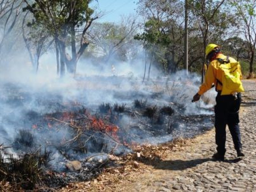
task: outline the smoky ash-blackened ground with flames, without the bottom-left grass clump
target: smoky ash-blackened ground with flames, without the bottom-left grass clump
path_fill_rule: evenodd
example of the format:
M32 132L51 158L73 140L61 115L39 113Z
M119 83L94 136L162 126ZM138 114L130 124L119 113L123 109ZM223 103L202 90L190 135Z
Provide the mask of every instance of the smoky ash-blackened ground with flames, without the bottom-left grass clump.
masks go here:
M134 144L190 138L213 127L214 95L192 103L197 85L190 78L158 78L139 86L131 77L95 76L64 88L32 90L3 84L0 142L12 146L10 154L50 151L44 165L50 187L91 180L104 167L117 166L107 154L124 155ZM79 169L68 169L74 161Z

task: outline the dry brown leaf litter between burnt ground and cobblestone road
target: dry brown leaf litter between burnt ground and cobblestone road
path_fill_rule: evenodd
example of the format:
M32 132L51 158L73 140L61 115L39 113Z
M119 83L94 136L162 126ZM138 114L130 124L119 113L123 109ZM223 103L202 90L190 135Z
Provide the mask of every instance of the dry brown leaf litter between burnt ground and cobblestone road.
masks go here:
M131 177L140 180L140 175L150 173L154 166L161 164L170 154L183 151L193 139L177 139L169 143L156 145L133 146L134 153L122 157L109 156L116 166L106 168L102 174L92 180L71 183L62 192L70 191L118 191L116 184L122 184ZM137 178L138 177L138 178Z

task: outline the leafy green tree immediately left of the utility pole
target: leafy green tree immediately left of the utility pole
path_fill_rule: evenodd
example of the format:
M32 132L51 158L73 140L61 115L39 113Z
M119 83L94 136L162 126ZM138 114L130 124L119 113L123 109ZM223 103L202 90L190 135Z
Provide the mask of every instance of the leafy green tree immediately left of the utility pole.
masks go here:
M146 48L162 63L167 73L175 72L184 56L183 2L140 0L138 4L139 13L146 22L144 32L135 39L146 43Z

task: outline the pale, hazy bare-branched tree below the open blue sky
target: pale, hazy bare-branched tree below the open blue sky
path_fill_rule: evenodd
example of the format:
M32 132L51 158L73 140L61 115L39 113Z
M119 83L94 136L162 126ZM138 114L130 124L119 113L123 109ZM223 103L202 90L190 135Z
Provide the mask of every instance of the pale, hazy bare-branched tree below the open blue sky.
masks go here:
M95 23L88 31L89 40L94 49L102 55L104 62L112 56L126 60L134 42L133 36L137 33L138 24L134 16L123 17L120 24Z

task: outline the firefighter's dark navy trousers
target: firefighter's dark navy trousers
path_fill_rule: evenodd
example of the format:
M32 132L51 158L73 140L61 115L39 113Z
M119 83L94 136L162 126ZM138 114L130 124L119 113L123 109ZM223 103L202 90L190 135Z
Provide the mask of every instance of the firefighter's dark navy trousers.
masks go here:
M241 94L237 94L237 98L233 95L218 95L216 97L215 112L215 140L217 144L217 152L224 155L226 152L226 125L231 133L236 151L242 149L241 136L239 130L239 108L241 104Z

